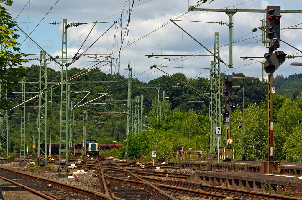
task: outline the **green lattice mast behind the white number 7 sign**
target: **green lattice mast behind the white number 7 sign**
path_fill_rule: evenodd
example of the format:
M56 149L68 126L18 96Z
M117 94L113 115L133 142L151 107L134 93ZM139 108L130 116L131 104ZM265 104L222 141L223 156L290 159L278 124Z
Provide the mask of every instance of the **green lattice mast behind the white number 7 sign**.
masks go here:
M216 127L221 126L221 109L220 109L220 57L219 52L219 32L215 32L214 42L215 60L211 61L210 68L210 135L209 135L209 157L219 156L217 147ZM219 137L219 136L218 136ZM221 139L219 138L219 146Z

